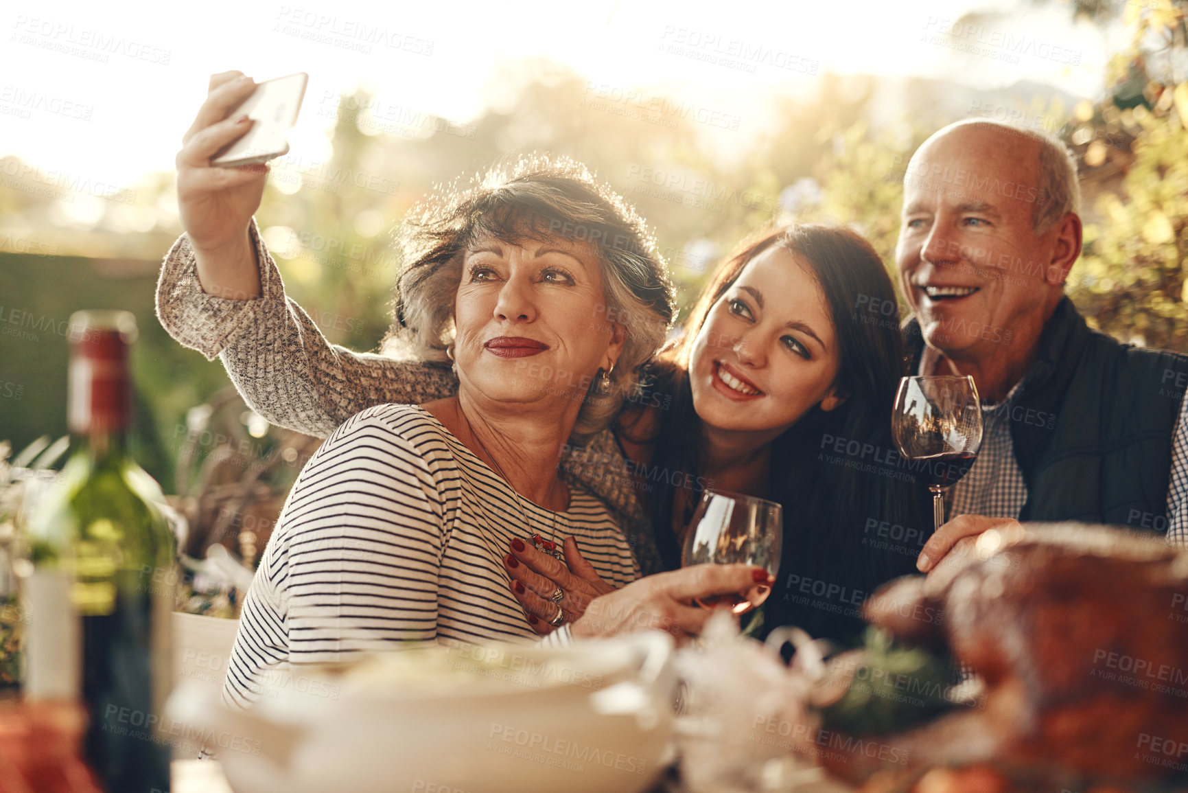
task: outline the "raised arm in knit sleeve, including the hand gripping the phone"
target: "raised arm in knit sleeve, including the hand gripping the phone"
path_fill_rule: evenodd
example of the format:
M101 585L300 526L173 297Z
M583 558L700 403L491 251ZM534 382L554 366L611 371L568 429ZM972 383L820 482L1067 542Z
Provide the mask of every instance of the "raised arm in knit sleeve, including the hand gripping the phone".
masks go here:
M267 169L215 168L210 157L251 124L230 109L252 93L241 73L210 77L209 93L177 155L185 234L165 257L157 315L177 341L219 355L247 403L268 421L327 436L349 416L385 402L450 396L450 370L330 345L285 296L253 213Z

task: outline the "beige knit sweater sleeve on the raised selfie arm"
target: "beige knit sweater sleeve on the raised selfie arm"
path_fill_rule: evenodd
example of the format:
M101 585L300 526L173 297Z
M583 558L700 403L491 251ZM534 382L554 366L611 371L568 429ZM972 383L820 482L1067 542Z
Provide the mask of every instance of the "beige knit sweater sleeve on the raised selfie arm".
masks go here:
M276 262L255 221L249 234L260 268L260 296L227 300L198 283L187 235L165 257L157 283L157 316L182 345L217 355L244 399L274 424L328 436L375 404L419 404L450 396L450 370L416 360L358 353L331 345L309 314L285 295Z

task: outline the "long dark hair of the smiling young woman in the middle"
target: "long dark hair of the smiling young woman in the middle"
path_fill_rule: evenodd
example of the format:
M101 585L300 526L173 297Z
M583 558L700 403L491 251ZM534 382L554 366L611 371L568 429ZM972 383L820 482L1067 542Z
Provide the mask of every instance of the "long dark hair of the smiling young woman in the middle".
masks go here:
M851 600L858 599L854 592L868 594L883 581L909 572L915 561L908 549L887 550L868 542L877 536L868 528L872 523L920 525L917 485L893 462L885 464L887 451L893 448L891 407L906 367L895 314L887 317L881 311L896 306L895 288L883 260L860 234L840 226L767 227L744 240L719 265L683 335L658 354L651 369L653 388L672 397L671 409L662 411L656 436L646 439L656 443L653 470L682 474L657 478L647 508L665 566L678 566L680 550L671 531L676 489L694 490L689 493L693 498L683 499L691 511L697 491L706 484L699 476L700 420L688 377L694 340L747 263L773 247L795 253L824 295L840 353L835 385L845 402L830 411L814 407L772 441L770 492L784 505L785 552L769 599L767 622L769 627L772 622L796 622L815 635L841 637L839 634L860 627L858 605L832 609L824 603L796 609L788 605L797 602L791 597L784 602L783 596L808 579L824 581L826 587L846 587ZM851 441L858 441L858 453L836 455L836 439L843 439L843 448L853 448ZM690 517L681 516L682 521Z

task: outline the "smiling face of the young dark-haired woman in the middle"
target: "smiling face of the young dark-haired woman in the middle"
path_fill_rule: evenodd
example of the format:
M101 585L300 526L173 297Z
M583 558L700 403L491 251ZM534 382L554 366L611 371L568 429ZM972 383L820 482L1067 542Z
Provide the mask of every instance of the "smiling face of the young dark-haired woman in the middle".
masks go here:
M722 430L771 433L814 405L841 404L838 344L824 294L798 256L769 247L714 303L689 359L697 416Z

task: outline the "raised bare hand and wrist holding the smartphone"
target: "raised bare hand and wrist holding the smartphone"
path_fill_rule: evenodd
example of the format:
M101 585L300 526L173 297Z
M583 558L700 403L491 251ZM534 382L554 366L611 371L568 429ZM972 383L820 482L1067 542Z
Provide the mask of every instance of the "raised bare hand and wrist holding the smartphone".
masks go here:
M210 158L252 128L251 119L230 109L255 89L239 71L211 75L207 101L182 138L177 152L177 204L182 227L202 288L219 297L249 300L260 294L255 251L248 224L260 206L268 169L265 165L219 168Z

